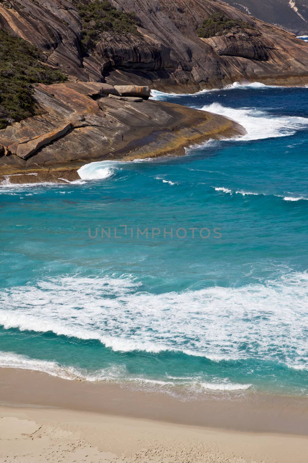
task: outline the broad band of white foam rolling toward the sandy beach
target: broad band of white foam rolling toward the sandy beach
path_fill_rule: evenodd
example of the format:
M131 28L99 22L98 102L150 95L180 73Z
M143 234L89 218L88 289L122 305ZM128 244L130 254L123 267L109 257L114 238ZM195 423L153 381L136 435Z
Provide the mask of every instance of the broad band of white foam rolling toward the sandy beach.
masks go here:
M183 352L229 360L302 358L308 274L264 284L141 292L131 277L61 277L0 292L0 324L97 339L114 351ZM271 345L271 349L268 346Z

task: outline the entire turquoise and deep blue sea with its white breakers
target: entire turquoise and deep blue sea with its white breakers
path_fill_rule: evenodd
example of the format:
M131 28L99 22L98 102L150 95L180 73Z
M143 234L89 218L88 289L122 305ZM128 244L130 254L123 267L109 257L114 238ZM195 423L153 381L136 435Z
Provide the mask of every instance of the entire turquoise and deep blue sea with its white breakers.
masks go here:
M155 98L247 134L64 185L5 179L0 366L186 398L307 395L308 88Z

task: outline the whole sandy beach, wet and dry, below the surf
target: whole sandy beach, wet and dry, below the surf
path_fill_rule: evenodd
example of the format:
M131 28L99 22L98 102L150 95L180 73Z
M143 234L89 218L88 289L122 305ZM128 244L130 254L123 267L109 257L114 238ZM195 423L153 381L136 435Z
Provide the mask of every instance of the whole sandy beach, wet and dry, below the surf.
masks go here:
M301 398L180 401L3 368L0 403L0 462L307 462Z

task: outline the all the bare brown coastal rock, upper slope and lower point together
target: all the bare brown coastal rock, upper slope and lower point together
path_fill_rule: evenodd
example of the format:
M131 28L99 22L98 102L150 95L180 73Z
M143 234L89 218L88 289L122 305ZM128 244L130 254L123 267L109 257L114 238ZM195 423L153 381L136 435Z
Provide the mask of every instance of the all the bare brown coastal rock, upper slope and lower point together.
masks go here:
M149 87L193 92L234 81L308 83L307 43L220 0L112 5L136 12L138 31L134 23L125 34L96 32L86 53L76 0L0 3L0 27L68 75L66 83L36 84L36 115L0 130L0 175L69 181L85 163L180 154L192 143L244 131L222 116L148 100ZM241 27L199 38L198 26L214 13Z

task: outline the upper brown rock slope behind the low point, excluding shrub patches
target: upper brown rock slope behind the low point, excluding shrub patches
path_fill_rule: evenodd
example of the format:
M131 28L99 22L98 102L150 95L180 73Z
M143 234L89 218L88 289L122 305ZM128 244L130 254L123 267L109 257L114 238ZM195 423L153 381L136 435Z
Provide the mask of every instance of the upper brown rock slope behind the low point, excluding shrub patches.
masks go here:
M101 34L89 56L80 53L81 20L68 0L11 0L0 26L43 50L47 63L71 79L196 91L234 81L308 83L308 44L219 0L113 0L134 11L141 36ZM253 25L231 36L197 37L203 19L222 12Z

